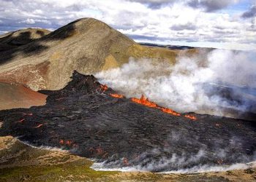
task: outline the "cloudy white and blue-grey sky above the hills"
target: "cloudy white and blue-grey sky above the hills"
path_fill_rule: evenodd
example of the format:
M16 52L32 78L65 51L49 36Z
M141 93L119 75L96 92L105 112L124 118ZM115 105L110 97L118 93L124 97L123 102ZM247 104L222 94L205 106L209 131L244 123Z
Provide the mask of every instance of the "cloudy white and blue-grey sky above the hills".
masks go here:
M94 17L138 42L256 50L256 0L0 0L0 34Z

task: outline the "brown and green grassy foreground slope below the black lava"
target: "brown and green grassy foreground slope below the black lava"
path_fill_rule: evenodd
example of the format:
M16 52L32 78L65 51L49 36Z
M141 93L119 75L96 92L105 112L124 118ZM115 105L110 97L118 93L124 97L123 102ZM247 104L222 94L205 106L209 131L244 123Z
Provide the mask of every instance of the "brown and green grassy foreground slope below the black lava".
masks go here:
M68 151L34 148L11 136L0 137L0 181L254 181L256 166L219 173L161 174L96 171ZM85 173L86 171L86 173ZM50 174L50 175L49 175Z

